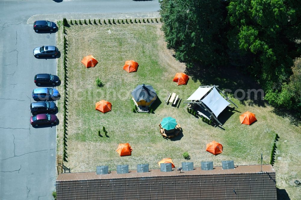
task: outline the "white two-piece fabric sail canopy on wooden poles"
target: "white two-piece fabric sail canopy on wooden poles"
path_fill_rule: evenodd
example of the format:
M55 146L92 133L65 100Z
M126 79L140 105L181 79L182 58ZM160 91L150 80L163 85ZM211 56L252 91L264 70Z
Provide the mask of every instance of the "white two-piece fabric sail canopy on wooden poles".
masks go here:
M210 91L211 90L211 91ZM210 92L209 92L210 91ZM208 93L209 92L209 93ZM219 93L221 92L227 100L237 107L217 86L200 86L187 100L203 108L208 112L220 125L222 125L217 117L227 108L230 103ZM206 96L205 96L206 95ZM205 97L204 97L205 96ZM204 98L203 98L204 97ZM186 100L186 101L187 101ZM238 107L237 107L238 108ZM208 118L204 115L204 117Z

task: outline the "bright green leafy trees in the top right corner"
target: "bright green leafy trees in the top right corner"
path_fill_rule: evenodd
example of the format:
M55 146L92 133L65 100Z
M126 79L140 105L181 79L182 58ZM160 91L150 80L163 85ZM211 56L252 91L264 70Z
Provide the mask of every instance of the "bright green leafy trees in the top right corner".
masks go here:
M292 0L232 0L227 9L230 62L239 66L245 60L240 66L261 83L265 100L290 108L293 94L287 83L293 59L301 52L295 42L300 8Z

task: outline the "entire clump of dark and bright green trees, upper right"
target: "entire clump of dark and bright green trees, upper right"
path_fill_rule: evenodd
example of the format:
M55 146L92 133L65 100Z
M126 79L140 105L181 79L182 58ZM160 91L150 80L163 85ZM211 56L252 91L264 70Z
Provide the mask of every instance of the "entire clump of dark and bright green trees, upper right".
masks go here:
M162 30L176 58L236 66L260 83L276 107L299 109L301 8L295 0L163 0ZM295 70L295 71L294 71ZM300 91L299 91L300 92Z

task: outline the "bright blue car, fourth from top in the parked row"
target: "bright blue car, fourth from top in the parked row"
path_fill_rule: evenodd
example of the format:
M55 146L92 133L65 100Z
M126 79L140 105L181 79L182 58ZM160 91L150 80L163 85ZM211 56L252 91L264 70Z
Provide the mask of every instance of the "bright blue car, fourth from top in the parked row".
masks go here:
M60 93L54 88L43 87L33 90L33 99L35 101L56 101L60 97Z

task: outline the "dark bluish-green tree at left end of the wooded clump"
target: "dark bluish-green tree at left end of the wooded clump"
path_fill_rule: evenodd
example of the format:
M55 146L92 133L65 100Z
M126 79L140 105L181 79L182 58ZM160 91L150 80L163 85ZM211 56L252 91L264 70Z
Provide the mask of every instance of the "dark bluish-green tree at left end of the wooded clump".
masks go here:
M222 0L160 1L167 47L173 48L175 57L188 67L199 62L218 65L225 61L221 45L225 32L224 4Z

